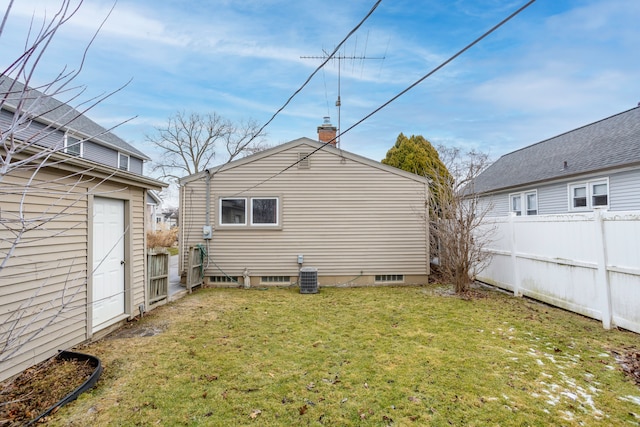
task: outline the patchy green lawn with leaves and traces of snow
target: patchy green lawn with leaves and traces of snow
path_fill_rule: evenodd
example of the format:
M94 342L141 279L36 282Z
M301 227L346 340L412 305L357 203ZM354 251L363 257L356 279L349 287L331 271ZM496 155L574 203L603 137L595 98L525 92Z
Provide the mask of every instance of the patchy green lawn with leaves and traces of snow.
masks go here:
M83 348L103 376L51 425L637 425L639 344L493 291L204 289Z

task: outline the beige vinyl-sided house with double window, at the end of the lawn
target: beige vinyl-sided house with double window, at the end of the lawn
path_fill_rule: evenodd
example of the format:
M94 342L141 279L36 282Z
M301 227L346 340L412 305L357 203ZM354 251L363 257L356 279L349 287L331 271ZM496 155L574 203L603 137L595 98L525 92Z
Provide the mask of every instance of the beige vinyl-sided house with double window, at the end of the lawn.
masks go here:
M180 185L181 269L204 245L206 283L295 285L301 267L317 268L320 286L427 281L428 182L417 175L301 138Z

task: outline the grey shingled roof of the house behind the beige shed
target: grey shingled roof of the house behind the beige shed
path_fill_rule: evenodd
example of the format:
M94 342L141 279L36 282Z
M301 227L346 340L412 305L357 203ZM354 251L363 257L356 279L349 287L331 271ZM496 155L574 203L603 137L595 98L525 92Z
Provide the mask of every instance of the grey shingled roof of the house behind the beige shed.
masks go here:
M7 76L0 76L0 96L6 97L2 106L3 109L14 112L18 108L21 98L26 99L25 108L29 108L29 105L35 102L36 99L40 99L39 111L33 112L36 116L36 121L44 124L63 124L68 122L60 129L73 131L92 142L105 145L125 154L133 155L143 160L150 160L148 156L131 144L95 123L68 104L60 102L51 95L43 94L36 89L27 88L26 97L23 91L25 91L24 84Z

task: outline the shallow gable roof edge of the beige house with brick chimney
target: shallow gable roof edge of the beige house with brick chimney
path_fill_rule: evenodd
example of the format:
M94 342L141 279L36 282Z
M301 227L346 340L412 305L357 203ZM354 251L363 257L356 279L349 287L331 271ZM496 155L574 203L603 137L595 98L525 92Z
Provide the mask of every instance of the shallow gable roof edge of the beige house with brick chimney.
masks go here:
M360 156L358 154L354 154L351 153L349 151L345 151L342 150L340 148L336 148L334 146L332 146L331 144L326 144L324 142L319 142L310 138L298 138L298 139L294 139L293 141L289 141L289 142L285 142L284 144L280 144L277 145L275 147L269 148L268 150L264 150L261 151L259 153L256 154L252 154L250 156L247 157L243 157L242 159L238 159L238 160L234 160L232 162L229 163L225 163L213 168L209 168L209 172L210 173L217 173L217 172L222 172L222 171L226 171L226 170L230 170L230 169L234 169L237 167L240 167L242 165L245 165L247 163L252 163L255 161L258 161L260 159L263 159L265 157L269 157L269 156L273 156L275 154L290 150L292 148L296 148L299 146L303 146L306 145L310 148L310 152L313 152L314 150L322 150L325 153L331 153L331 154L335 154L336 156L339 157L343 157L347 160L351 160L353 162L356 163L360 163L360 164L364 164L376 169L380 169L383 170L385 172L389 172L392 173L394 175L399 175L402 176L404 178L407 179L411 179L414 181L419 181L419 182L424 182L424 183L428 183L429 180L425 177L422 177L420 175L416 175L410 172L406 172L403 171L402 169L398 169L395 168L393 166L388 166L388 165L384 165L380 162L376 162L375 160L371 160L368 159L366 157ZM313 157L313 154L312 154ZM181 178L178 182L180 183L180 185L191 182L191 181L195 181L197 179L200 179L202 176L204 176L205 172L198 172L195 173L193 175L189 175L186 177Z

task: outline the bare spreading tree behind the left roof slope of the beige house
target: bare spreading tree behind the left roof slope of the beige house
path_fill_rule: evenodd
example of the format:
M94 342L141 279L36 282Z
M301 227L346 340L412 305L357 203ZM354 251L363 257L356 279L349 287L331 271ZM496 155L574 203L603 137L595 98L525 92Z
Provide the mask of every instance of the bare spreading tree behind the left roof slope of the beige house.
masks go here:
M156 128L155 135L148 135L147 141L161 150L154 170L161 178L175 180L213 166L218 150L226 150L227 161L262 151L266 134L259 131L253 120L235 124L215 112L177 112L166 126Z

